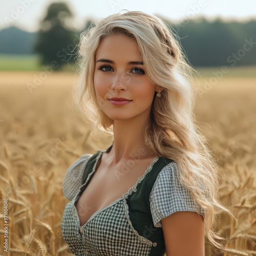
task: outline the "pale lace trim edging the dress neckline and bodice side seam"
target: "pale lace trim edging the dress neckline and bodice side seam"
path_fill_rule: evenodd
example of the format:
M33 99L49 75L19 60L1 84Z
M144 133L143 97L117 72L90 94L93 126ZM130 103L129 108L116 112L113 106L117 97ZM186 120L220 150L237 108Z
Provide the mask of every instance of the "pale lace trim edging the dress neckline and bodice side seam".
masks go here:
M95 161L94 166L93 166L93 171L89 174L89 176L88 176L86 182L85 182L82 186L84 186L84 185L87 184L89 178L90 178L91 175L95 172L97 163L98 163L98 161L99 161L101 155L102 155L104 152L106 152L107 150L108 150L108 149L106 149L106 150L104 150L104 151L101 151L101 152L99 153L99 155L96 157L96 161ZM136 184L135 184L133 187L131 187L126 193L124 193L124 194L122 195L121 198L118 198L117 200L115 200L114 202L110 203L109 205L107 205L107 206L105 206L105 207L103 207L103 208L101 208L101 209L95 211L94 214L89 218L89 220L81 226L81 228L86 227L87 224L88 224L95 216L99 215L103 210L106 210L106 209L110 208L112 205L116 204L116 203L117 203L118 201L120 201L120 200L126 199L129 195L132 194L133 191L136 192L136 190L137 190L137 189L136 189L137 185L145 178L146 174L151 171L153 165L155 164L155 162L157 162L158 159L159 159L159 157L157 156L156 158L154 158L154 159L152 160L151 164L147 167L145 173L138 179L138 181L136 182ZM81 186L81 187L82 187L82 186ZM78 212L77 212L76 207L75 207L75 201L77 200L78 196L80 197L79 193L80 193L80 191L81 191L81 187L79 188L79 191L77 192L76 196L74 197L73 203L72 203L73 210L74 210L74 214L75 214L76 217L77 217L77 223L76 223L76 224L78 224L78 229L80 228L80 221L79 221ZM125 207L124 207L124 209L125 209ZM126 212L126 209L125 209L125 212ZM130 221L130 219L129 219L129 221ZM130 222L131 222L131 221L130 221ZM133 226L132 226L132 228L133 228ZM137 232L134 228L133 228L133 231L134 231L135 233ZM138 232L137 232L137 234L138 234ZM138 236L139 236L139 234L138 234ZM140 237L140 236L139 236L139 237ZM142 237L141 237L141 238L142 238ZM149 240L148 240L148 241L149 241ZM151 242L151 241L150 241L150 242ZM147 244L149 244L149 243L147 242ZM152 242L151 242L151 244L152 244ZM151 245L151 244L149 244L149 245Z

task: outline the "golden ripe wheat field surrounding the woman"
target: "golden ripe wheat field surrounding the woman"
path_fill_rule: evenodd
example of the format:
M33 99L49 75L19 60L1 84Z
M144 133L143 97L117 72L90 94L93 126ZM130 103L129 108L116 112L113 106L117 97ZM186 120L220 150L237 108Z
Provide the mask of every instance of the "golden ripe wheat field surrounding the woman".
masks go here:
M77 113L71 93L77 75L0 74L0 254L73 255L61 236L68 202L62 178L79 156L106 148L112 138L90 134ZM207 90L203 79L209 78L196 81L203 93L195 116L225 169L220 199L238 220L218 215L215 231L227 239L225 250L206 240L205 255L256 255L256 77L222 78Z

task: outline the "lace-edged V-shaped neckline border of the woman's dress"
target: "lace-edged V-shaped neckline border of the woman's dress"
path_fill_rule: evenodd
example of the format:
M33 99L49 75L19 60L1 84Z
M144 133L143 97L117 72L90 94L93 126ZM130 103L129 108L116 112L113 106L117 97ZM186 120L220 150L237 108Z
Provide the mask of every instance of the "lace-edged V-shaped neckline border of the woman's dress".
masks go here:
M114 143L114 142L113 142L113 143ZM82 192L81 192L81 188L82 188L83 186L87 185L87 183L88 183L88 181L89 181L91 175L93 175L93 174L95 173L96 166L98 165L98 162L99 162L99 160L101 159L102 154L105 153L105 152L109 152L109 151L111 150L111 147L113 146L113 143L112 143L112 145L111 145L109 148L107 148L106 150L100 151L100 153L99 153L98 156L96 157L96 161L95 161L95 163L94 163L94 165L93 165L93 170L92 170L92 172L88 175L86 182L84 182L84 184L82 184L82 185L80 186L78 192L76 193L75 197L74 197L73 200L72 200L72 206L73 206L73 209L74 209L74 214L75 214L75 216L76 216L76 221L77 221L77 223L78 223L78 226L81 227L81 228L86 227L87 224L88 224L92 219L94 219L97 215L99 215L101 211L110 208L111 206L113 206L114 204L116 204L116 203L117 203L118 201L120 201L120 200L126 199L126 198L127 198L128 196L130 196L133 192L136 193L136 191L137 191L137 188L136 188L136 187L138 186L138 184L145 178L145 176L147 175L147 173L149 173L149 172L151 171L153 165L154 165L154 164L158 161L158 159L159 159L159 156L157 156L157 157L155 157L155 158L151 161L150 165L148 165L148 167L146 168L144 174L138 178L136 184L135 184L134 186L132 186L126 193L124 193L124 194L122 195L122 197L116 199L114 202L110 203L109 205L104 206L103 208L101 208L101 209L95 211L94 214L92 214L92 216L88 219L88 221L87 221L86 223L84 223L82 226L80 226L80 220L79 220L79 216L78 216L78 212L77 212L77 209L76 209L75 204L76 204L78 198L81 196L82 192L83 192L84 189L85 189L85 188L84 188L84 189L82 190Z

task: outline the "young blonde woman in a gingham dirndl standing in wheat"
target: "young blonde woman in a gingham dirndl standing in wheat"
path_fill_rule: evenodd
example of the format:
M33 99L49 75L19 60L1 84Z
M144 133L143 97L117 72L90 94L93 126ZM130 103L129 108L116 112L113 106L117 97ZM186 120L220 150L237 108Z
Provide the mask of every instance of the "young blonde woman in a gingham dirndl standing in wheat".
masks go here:
M192 69L161 19L113 14L81 36L75 96L109 148L70 166L62 234L76 255L202 256L218 166L193 115Z

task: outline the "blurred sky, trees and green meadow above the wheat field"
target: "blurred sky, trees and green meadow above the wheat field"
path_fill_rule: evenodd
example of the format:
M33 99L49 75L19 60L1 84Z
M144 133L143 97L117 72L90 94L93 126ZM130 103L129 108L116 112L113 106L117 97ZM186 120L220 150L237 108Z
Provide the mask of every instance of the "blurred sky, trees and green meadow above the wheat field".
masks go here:
M255 8L253 1L242 5L204 0L182 4L151 1L147 5L126 0L12 1L0 11L0 69L41 70L42 65L50 65L54 60L58 63L55 69L60 69L73 61L70 55L82 31L123 9L141 10L162 18L181 38L189 62L195 67L253 66Z

